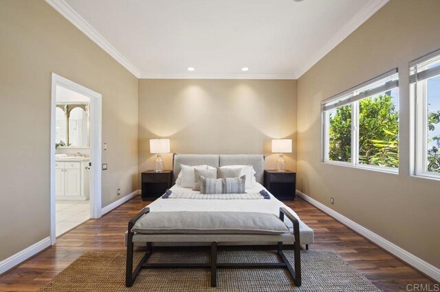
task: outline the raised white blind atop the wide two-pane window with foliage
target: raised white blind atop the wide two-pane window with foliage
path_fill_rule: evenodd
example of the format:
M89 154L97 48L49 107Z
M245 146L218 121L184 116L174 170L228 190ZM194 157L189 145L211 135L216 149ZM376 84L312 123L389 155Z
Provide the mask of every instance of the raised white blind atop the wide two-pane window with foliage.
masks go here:
M322 112L399 87L397 68L322 101Z

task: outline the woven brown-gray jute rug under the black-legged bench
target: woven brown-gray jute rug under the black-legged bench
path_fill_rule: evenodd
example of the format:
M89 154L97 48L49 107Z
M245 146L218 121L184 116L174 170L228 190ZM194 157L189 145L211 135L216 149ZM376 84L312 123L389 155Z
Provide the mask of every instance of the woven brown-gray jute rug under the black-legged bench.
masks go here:
M293 265L293 251L285 251ZM135 254L138 263L142 254ZM149 263L209 263L206 252L157 252ZM219 263L277 263L276 252L219 252ZM379 291L361 273L331 251L302 251L303 284L295 287L285 269L218 269L217 288L209 269L142 269L125 287L124 252L83 254L40 291Z

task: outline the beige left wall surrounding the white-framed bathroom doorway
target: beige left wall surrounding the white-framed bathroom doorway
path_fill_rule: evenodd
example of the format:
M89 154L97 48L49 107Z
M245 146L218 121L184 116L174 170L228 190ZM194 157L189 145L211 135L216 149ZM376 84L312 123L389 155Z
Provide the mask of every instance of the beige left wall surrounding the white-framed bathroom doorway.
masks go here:
M102 94L102 207L137 189L137 78L40 1L1 1L0 261L50 235L51 73Z

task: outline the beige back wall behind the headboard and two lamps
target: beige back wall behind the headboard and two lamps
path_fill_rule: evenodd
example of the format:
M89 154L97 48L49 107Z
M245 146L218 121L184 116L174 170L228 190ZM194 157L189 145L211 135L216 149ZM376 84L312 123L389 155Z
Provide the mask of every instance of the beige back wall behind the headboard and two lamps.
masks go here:
M184 154L265 154L272 138L292 138L296 170L296 80L140 80L139 169L153 168L149 139L170 138ZM172 154L164 155L172 168Z

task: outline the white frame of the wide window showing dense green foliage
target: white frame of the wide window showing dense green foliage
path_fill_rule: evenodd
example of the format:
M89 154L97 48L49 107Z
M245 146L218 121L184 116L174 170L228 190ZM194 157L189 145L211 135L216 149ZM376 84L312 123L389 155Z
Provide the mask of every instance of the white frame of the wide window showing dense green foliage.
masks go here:
M358 86L350 88L349 90L345 90L344 92L330 97L329 99L325 99L321 102L321 162L329 165L340 165L344 167L354 167L357 169L366 169L371 171L380 171L384 173L399 173L399 167L384 167L380 165L364 165L359 162L359 113L360 113L360 101L362 99L366 99L374 96L375 94L371 94L370 96L363 97L361 99L357 99L354 101L349 101L351 97L356 96L362 90L361 88L365 88L368 86L373 86L375 83L380 82L381 80L386 80L386 78L391 78L397 76L396 86L393 88L399 88L399 75L398 69L395 68L391 71L388 71L382 75L374 77L373 79L363 82ZM385 92L387 90L384 90ZM381 93L383 93L381 92ZM335 104L335 101L338 99L347 99L349 101L347 104L342 104L341 106L351 106L351 162L345 161L337 161L329 159L329 110L325 110L326 104ZM340 106L336 107L340 108ZM400 135L400 119L399 119L399 135ZM400 149L399 149L399 162L400 162Z

